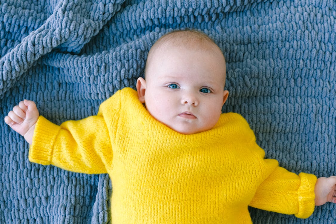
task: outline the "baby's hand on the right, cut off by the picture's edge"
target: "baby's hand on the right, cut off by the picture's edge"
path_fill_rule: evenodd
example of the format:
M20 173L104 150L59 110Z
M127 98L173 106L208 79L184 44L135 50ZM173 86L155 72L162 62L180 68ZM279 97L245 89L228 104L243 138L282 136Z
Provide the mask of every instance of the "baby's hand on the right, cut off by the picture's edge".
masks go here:
M336 203L336 176L317 179L314 192L315 205L324 205L328 201Z

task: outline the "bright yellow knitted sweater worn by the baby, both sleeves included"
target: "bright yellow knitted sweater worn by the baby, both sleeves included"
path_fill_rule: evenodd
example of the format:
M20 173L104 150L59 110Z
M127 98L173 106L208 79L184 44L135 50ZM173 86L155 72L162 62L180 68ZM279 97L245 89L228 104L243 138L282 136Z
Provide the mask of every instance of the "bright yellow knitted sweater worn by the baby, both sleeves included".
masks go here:
M112 223L251 223L248 205L306 218L316 176L296 175L264 159L238 114L183 135L156 121L125 88L97 116L60 126L40 117L32 162L73 172L108 173Z

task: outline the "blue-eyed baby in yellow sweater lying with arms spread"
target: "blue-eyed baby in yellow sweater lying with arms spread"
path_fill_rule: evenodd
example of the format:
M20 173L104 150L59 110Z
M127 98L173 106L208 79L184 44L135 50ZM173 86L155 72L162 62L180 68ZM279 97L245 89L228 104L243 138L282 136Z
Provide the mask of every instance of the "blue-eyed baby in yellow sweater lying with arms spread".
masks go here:
M108 173L112 223L251 223L248 206L307 218L335 203L336 177L264 159L246 120L221 114L225 71L209 37L176 31L151 48L137 91L117 91L97 116L58 126L24 100L5 122L30 144L31 162Z

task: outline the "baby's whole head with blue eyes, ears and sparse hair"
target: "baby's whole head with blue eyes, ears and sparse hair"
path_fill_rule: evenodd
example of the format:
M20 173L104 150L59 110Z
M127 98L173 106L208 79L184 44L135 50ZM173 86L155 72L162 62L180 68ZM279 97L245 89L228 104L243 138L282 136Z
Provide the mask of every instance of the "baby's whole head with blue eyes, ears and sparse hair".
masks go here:
M175 31L150 49L145 79L138 78L140 102L158 121L182 133L211 129L218 121L228 91L225 59L205 34Z

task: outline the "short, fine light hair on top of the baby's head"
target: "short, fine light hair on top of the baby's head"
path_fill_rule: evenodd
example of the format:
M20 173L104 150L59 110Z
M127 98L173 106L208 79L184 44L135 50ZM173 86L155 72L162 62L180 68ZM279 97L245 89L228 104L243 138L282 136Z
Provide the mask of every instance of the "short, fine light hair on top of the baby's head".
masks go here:
M163 35L153 44L148 52L144 74L146 74L146 68L154 52L165 44L171 44L177 47L183 46L191 49L197 48L205 51L213 50L215 53L219 51L221 55L223 55L218 45L205 33L196 30L176 30Z

